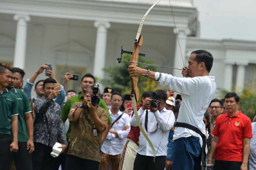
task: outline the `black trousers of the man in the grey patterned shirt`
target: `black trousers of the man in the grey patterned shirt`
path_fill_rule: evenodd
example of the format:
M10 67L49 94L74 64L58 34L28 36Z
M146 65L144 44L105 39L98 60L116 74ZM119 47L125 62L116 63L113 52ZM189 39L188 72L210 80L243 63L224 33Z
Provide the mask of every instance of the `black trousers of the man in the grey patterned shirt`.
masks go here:
M32 153L33 170L54 170L55 159L51 156L52 147L34 142L35 150Z

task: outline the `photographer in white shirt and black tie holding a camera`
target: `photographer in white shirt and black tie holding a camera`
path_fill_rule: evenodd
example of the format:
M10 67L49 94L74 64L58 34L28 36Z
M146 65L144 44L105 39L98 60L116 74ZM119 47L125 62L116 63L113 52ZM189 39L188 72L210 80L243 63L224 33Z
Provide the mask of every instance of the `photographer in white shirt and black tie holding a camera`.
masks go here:
M165 168L169 131L174 125L175 118L173 112L165 108L166 92L163 90L156 90L155 92L156 100L159 103L156 104L156 107L152 108L150 107L150 100L145 101L138 111L138 116L146 135L152 141L157 151L156 160L154 163L151 147L140 132L139 148L134 160L133 170L163 170ZM147 109L148 107L150 109ZM138 126L134 115L130 123L132 126Z

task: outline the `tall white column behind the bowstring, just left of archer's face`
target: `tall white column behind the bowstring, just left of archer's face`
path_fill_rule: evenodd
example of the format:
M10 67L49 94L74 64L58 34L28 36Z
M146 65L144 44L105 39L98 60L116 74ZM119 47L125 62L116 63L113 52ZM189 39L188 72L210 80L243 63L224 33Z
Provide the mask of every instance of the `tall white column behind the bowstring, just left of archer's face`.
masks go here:
M173 32L176 35L175 28L173 29ZM179 41L176 36L173 67L182 68L182 67L184 67L183 61L184 61L185 66L187 66L185 57L186 57L187 35L189 34L189 30L188 29L177 29L177 34L179 37L180 45L179 45ZM180 47L181 47L181 49L180 49ZM182 52L182 56L183 56L183 61L182 61L182 57L181 57L181 52ZM176 77L182 77L181 70L174 69L172 75L174 75Z

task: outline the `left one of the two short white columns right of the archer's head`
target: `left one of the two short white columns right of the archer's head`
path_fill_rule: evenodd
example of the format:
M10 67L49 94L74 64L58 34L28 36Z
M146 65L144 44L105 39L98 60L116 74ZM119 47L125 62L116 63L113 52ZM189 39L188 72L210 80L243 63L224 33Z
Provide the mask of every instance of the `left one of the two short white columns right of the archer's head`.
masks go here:
M234 62L225 61L224 63L226 64L224 71L224 88L228 91L231 91Z

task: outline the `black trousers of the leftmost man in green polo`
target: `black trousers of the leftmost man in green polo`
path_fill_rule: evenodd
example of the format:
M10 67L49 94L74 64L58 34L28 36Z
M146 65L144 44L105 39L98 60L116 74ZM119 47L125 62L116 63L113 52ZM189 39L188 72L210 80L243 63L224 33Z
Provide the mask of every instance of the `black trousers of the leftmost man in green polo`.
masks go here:
M12 164L11 140L11 135L0 136L0 169L2 170L9 170Z

